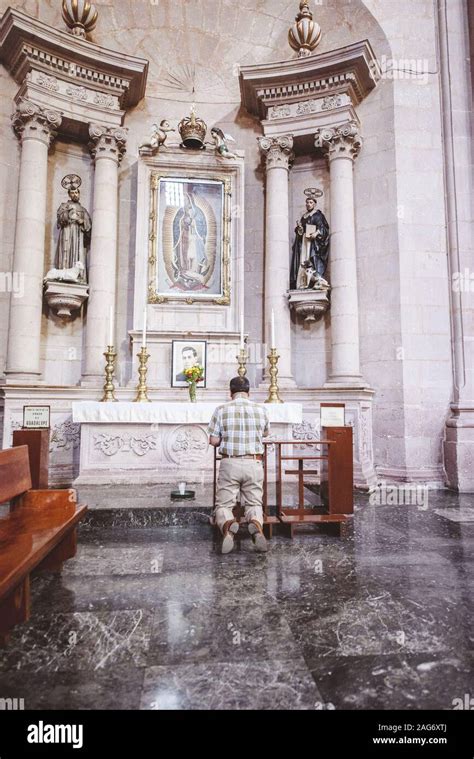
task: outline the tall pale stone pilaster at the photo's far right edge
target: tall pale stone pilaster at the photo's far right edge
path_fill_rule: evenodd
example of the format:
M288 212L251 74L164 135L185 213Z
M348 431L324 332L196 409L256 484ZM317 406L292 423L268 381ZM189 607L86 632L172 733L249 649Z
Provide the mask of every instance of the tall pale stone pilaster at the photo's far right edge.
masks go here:
M444 466L448 487L474 493L474 257L471 80L468 4L438 0L446 247L453 356L451 414Z

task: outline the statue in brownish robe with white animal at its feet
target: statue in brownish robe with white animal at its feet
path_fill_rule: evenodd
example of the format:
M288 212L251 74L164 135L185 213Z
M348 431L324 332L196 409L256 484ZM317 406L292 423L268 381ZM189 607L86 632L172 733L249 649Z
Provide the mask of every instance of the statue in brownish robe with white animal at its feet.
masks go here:
M58 208L59 237L55 268L46 274L45 282L87 283L86 251L90 244L92 222L79 202L81 184L82 180L77 174L68 174L61 182L68 191L69 200Z

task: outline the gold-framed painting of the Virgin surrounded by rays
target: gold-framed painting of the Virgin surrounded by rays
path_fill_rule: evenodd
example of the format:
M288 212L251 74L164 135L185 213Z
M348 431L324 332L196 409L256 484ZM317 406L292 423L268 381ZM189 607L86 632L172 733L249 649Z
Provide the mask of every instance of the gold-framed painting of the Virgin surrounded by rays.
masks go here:
M149 302L230 302L230 183L152 174Z

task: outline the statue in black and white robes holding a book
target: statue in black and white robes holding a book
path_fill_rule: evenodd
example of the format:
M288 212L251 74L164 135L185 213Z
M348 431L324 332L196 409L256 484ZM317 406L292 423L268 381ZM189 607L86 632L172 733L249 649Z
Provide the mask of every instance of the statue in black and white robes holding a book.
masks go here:
M328 287L324 279L329 258L329 224L316 208L323 194L314 187L304 191L306 212L296 222L293 258L290 271L290 290L317 290Z

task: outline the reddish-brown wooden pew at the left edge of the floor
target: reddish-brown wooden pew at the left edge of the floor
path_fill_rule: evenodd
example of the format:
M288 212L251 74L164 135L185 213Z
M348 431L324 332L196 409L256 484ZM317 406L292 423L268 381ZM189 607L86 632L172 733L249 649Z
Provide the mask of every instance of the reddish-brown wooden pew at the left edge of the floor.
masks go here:
M60 571L76 554L77 524L87 506L74 490L32 490L28 447L0 451L0 645L30 616L30 573Z

